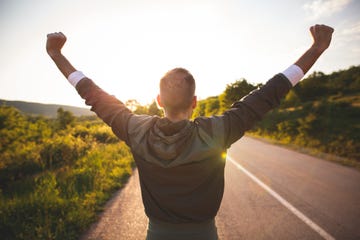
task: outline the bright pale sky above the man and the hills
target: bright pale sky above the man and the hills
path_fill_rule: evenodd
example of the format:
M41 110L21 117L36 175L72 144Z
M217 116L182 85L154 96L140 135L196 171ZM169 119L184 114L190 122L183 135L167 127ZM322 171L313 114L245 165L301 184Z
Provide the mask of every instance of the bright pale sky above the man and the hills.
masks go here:
M0 0L0 99L85 106L48 57L46 35L121 101L149 104L175 67L194 76L198 99L245 78L265 83L312 44L309 27L335 29L309 73L360 65L358 0Z

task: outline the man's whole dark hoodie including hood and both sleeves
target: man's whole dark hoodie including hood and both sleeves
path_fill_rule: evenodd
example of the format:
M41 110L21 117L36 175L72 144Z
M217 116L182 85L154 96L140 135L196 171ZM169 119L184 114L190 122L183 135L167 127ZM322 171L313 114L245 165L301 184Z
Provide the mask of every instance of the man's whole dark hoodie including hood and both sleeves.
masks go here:
M220 116L171 122L133 114L88 78L76 85L91 110L130 147L147 216L169 223L216 216L224 192L226 149L276 107L290 88L289 80L277 74Z

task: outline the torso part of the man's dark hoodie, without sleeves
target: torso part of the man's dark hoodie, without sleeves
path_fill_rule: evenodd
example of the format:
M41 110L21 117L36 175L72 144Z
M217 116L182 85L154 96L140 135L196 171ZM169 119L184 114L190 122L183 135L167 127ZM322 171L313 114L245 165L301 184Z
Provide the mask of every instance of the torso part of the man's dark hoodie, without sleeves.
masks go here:
M143 136L129 134L146 214L169 223L213 219L224 191L222 121L155 119Z

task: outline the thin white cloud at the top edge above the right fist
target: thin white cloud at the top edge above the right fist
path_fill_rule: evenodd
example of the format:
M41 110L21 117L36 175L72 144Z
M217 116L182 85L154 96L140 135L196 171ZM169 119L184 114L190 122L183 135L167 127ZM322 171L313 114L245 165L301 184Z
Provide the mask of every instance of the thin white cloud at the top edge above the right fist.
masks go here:
M313 20L321 17L329 17L340 12L350 4L352 0L314 0L306 3L303 7Z

